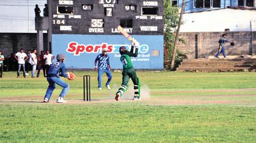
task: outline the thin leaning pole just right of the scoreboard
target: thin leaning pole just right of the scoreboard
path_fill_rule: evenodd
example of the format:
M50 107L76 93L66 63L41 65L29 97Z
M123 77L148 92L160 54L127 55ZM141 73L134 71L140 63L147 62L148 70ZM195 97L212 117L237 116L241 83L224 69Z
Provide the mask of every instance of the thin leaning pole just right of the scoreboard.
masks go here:
M173 52L172 52L172 61L171 61L171 69L172 70L174 67L175 57L176 57L176 53L177 53L178 33L180 33L180 27L181 27L181 21L182 21L184 7L185 7L185 0L182 0L181 14L180 14L180 19L178 20L178 29L177 29L175 43L174 43Z

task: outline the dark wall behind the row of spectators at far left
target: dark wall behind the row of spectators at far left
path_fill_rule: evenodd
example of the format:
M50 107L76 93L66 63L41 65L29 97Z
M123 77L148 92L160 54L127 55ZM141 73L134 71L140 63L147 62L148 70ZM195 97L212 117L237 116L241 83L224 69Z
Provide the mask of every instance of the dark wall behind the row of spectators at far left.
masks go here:
M4 56L9 57L11 53L16 53L20 48L31 50L36 48L36 33L0 33L0 49ZM44 50L47 46L47 34L44 34Z

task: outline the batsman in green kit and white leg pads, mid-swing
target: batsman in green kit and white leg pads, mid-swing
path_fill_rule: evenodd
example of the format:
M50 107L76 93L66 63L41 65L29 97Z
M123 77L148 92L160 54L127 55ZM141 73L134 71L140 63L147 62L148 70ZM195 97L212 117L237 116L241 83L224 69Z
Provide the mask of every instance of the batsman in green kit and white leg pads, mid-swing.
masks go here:
M135 49L135 53L133 53L133 49ZM131 78L134 84L134 97L133 100L139 100L141 98L141 84L139 81L139 78L137 77L136 71L133 68L131 57L137 57L138 56L138 49L139 49L139 43L137 40L132 40L132 47L131 51L127 51L127 49L122 46L119 48L119 53L121 54L121 62L123 63L123 81L122 85L118 89L117 93L115 94L115 100L119 100L119 98L124 94L124 92L128 89L128 82Z

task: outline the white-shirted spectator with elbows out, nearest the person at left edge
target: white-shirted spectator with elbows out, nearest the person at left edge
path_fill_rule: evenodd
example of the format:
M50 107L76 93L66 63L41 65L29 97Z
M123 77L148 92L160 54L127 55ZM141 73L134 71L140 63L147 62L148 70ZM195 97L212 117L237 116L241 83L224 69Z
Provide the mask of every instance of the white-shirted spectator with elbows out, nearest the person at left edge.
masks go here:
M27 60L27 54L24 53L24 49L20 49L20 52L15 54L15 59L18 61L17 78L20 77L21 66L23 67L23 77L26 78L25 60Z

